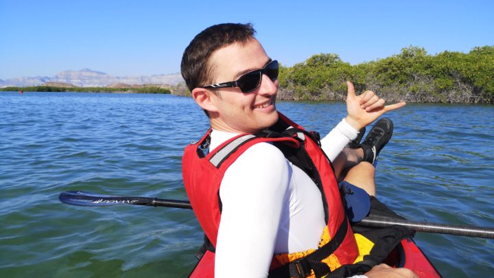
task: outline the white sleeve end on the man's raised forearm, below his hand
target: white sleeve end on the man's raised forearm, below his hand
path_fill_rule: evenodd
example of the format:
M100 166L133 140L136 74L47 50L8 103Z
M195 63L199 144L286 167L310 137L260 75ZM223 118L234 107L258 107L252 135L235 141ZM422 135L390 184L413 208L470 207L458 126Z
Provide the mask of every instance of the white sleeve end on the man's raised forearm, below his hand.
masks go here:
M331 162L338 157L338 154L351 140L357 138L358 130L350 126L345 119L321 139L322 150L326 153Z

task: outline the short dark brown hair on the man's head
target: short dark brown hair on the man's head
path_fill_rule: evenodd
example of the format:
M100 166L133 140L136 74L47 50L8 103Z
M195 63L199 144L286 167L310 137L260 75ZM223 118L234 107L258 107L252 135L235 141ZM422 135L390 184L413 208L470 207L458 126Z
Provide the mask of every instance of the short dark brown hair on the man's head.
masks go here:
M184 51L180 71L190 91L213 83L209 58L217 49L254 38L252 24L223 23L207 27L191 40Z

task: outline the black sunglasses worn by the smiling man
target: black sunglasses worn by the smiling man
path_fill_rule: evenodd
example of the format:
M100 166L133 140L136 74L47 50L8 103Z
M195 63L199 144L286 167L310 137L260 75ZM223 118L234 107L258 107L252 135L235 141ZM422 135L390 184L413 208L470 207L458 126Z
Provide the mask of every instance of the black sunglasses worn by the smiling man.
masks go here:
M224 82L220 84L211 84L202 86L201 88L228 88L239 87L242 93L250 93L261 86L261 80L263 74L266 74L272 81L278 78L278 61L272 60L268 65L262 69L256 69L255 71L249 71L240 76L239 79L231 82Z

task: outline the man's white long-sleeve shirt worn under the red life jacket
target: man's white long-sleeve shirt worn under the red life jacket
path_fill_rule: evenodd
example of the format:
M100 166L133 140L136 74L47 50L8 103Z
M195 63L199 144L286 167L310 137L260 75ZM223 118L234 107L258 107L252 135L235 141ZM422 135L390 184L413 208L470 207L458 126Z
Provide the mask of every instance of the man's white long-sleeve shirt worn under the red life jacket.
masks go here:
M322 150L332 161L357 134L342 120ZM236 135L213 130L210 149ZM319 189L272 144L255 144L226 170L220 198L215 277L267 277L273 254L318 247L325 227Z

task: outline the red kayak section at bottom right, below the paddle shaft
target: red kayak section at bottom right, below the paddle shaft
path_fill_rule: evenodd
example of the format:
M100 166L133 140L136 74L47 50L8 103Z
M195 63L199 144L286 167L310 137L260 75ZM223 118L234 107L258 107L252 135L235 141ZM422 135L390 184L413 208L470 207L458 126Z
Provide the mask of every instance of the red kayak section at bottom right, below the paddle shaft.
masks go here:
M441 277L438 270L411 238L401 240L384 263L396 268L413 270L421 278Z

